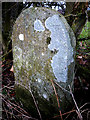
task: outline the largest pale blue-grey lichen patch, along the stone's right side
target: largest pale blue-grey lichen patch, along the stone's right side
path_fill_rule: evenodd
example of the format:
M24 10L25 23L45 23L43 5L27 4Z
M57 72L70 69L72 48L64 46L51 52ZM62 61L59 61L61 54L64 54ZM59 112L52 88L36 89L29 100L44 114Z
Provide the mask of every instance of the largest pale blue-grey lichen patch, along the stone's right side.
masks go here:
M57 82L66 82L68 79L68 65L73 62L73 48L69 34L59 15L47 18L45 26L51 32L51 41L48 48L51 51L57 51L51 61L53 73Z

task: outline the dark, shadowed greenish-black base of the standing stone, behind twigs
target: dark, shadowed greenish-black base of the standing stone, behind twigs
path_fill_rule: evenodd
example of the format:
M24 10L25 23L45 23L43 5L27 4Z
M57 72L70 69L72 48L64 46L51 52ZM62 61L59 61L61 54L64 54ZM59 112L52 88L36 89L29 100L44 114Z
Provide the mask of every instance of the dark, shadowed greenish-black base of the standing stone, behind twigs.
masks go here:
M16 89L16 99L17 101L21 102L23 104L23 108L34 118L40 119L40 116L37 112L37 108L35 106L34 100L31 96L31 93L26 89L23 88L20 85L15 85ZM39 111L41 113L42 119L54 119L58 120L60 117L59 113L59 108L58 108L58 103L56 100L56 96L51 96L51 100L47 101L46 99L40 98L38 94L34 93L35 101L37 103L37 106L39 108ZM71 99L71 97L70 97ZM60 99L59 99L60 100ZM67 95L66 95L66 100L67 100ZM61 106L61 111L62 114L66 113L68 111L71 111L72 109L72 101L67 100L63 101L63 103L60 101L60 106ZM58 116L56 118L53 118L55 116ZM63 116L64 117L64 116Z

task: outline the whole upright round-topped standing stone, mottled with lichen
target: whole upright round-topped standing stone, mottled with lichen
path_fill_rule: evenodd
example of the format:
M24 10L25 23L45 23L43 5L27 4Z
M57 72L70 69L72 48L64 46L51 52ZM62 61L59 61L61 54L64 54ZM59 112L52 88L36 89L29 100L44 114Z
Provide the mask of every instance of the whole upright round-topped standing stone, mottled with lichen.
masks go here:
M75 37L65 18L48 8L28 8L17 18L12 33L16 96L32 116L59 114L51 80L68 90L73 85ZM71 102L55 84L61 110Z

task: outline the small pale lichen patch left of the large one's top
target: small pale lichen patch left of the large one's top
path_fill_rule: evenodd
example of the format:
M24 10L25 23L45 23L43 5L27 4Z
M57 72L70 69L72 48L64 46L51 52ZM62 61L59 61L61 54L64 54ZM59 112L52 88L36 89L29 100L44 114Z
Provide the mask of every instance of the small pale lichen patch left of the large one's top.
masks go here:
M43 26L42 22L38 19L34 22L34 30L42 32L45 31L45 27Z

